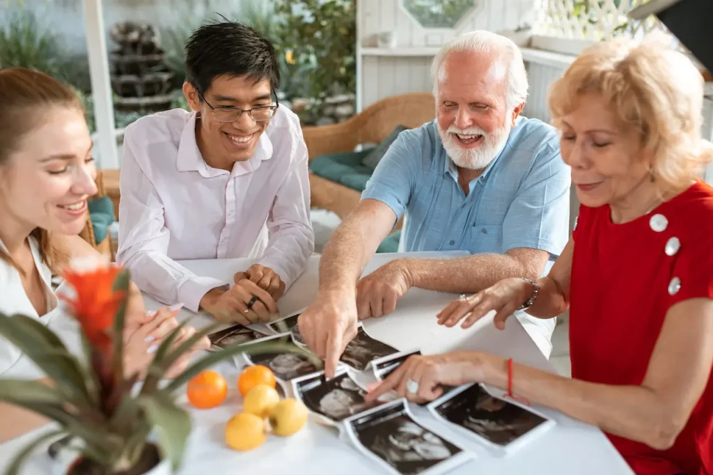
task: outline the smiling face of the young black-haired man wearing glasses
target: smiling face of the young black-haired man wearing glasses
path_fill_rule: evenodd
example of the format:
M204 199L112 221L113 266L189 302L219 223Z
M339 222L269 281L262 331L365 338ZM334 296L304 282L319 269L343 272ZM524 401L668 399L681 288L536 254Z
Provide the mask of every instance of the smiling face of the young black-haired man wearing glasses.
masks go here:
M252 157L257 141L270 120L256 122L247 112L232 122L219 119L230 108L247 111L272 106L270 81L255 81L255 78L249 76L217 76L207 91L200 91L205 101L200 100L198 91L190 83L183 85L183 92L190 107L200 112L200 121L196 123L196 138L208 165L232 170L235 162Z

